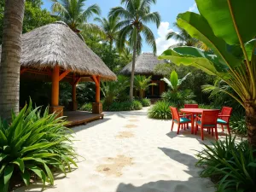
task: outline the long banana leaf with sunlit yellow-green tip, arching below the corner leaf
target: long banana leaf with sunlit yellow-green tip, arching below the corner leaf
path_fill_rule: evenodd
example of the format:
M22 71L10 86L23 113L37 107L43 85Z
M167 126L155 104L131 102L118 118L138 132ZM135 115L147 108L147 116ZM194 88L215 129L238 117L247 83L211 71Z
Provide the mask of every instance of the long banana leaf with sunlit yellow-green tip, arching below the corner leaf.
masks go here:
M214 35L211 26L201 15L192 12L179 14L177 15L177 24L188 32L192 38L199 39L207 44L214 54L218 55L219 61L214 64L219 72L223 71L224 68L234 68L240 65L241 60L228 52L225 41Z

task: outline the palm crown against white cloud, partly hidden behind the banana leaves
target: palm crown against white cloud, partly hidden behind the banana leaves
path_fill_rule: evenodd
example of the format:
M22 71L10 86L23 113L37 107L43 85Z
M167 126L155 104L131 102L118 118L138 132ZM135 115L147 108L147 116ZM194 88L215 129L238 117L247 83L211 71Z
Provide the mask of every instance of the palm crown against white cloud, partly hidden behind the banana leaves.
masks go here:
M188 32L186 32L183 28L177 25L177 22L175 22L173 26L177 27L178 32L168 32L168 34L166 35L166 40L173 38L180 43L172 45L169 49L172 49L175 46L183 45L195 46L195 44L197 43L196 38L191 38Z

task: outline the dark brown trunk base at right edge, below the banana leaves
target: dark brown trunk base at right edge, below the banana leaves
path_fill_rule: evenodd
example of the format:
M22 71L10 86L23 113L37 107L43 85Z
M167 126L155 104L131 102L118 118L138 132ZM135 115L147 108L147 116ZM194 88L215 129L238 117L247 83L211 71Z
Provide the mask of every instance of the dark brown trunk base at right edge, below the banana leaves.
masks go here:
M256 104L245 102L248 142L256 148Z

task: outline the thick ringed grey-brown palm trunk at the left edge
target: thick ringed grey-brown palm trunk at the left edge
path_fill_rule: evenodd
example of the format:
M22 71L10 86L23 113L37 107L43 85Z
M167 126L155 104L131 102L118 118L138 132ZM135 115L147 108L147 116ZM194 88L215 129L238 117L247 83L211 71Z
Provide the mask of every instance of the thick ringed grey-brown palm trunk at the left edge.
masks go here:
M0 65L0 116L19 112L21 33L25 0L5 0Z

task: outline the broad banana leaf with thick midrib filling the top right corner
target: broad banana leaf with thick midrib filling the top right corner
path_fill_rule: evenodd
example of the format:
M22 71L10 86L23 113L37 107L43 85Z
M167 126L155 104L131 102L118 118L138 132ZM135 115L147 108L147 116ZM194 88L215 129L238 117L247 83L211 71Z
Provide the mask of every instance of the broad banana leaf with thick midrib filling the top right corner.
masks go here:
M195 0L195 2L214 34L218 38L223 38L227 44L240 44L234 24L243 44L255 37L255 0Z

